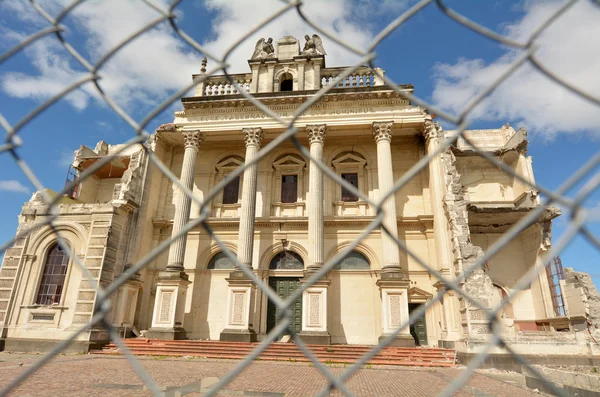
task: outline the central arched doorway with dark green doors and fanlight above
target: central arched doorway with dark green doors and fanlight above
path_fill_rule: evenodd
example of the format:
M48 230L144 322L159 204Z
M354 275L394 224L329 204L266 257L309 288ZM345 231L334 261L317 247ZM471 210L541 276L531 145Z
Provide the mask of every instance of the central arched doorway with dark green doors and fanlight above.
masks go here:
M282 251L276 254L269 263L269 287L282 299L288 299L300 288L300 277L292 276L298 270L304 270L302 257L293 251ZM299 333L302 331L302 296L299 296L291 306L292 321L289 331ZM281 310L269 300L267 304L267 333L277 325Z

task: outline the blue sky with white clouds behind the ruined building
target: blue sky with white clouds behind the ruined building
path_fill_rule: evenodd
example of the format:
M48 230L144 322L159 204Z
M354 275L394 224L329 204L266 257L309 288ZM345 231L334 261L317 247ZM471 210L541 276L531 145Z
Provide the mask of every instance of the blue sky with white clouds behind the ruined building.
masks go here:
M157 4L163 4L156 1ZM412 1L313 0L306 14L331 32L357 47L364 47L395 15ZM557 74L587 92L600 92L600 7L581 1L563 20L540 37L539 57ZM41 1L56 15L64 2ZM513 39L524 41L561 1L448 1L465 16ZM177 9L178 24L215 55L247 32L281 2L242 0L183 1ZM98 60L108 48L157 17L142 2L104 1L78 7L67 17L66 37L87 59ZM46 27L28 2L0 3L0 51L23 37ZM231 58L231 71L245 72L246 60L258 37L275 40L292 34L312 33L292 12L269 24L246 40ZM0 64L0 113L15 124L37 105L84 73L55 38L40 40ZM3 47L2 47L3 46ZM356 58L325 40L328 66L350 64ZM414 84L415 94L456 114L475 93L504 70L516 54L443 15L434 5L396 30L377 47L376 64L397 83ZM201 56L176 38L167 24L160 25L133 42L103 69L101 85L136 120L141 120L170 93L186 84L200 68ZM209 68L214 62L209 60ZM148 126L170 122L170 107ZM560 186L600 148L600 111L570 94L529 67L505 82L472 114L472 128L498 128L510 122L529 131L529 154L533 156L536 182L550 189ZM449 128L452 126L448 125ZM123 120L103 104L87 84L59 101L22 129L18 149L40 181L59 190L73 151L80 144L94 147L104 139L120 143L133 134ZM595 173L598 169L595 170ZM587 178L586 180L589 180ZM569 192L574 195L581 184ZM0 154L0 241L12 237L17 215L33 186L8 153ZM600 193L585 203L590 211L589 228L600 236ZM568 226L568 216L554 224L554 239ZM571 242L561 254L563 265L587 271L600 284L598 250L582 238Z

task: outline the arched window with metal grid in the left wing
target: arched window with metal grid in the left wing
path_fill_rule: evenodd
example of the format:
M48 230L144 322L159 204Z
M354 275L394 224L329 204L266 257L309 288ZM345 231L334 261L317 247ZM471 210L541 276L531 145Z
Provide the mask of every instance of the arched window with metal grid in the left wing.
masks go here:
M60 303L69 257L58 245L54 244L48 251L42 281L35 303L38 305L53 305Z

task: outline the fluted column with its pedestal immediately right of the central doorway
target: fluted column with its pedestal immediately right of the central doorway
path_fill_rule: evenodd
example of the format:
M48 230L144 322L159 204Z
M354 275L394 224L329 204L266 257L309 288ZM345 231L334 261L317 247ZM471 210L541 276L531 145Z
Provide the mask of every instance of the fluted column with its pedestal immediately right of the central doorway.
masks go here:
M308 266L304 280L323 267L325 257L325 233L323 214L323 172L313 161L323 160L325 124L306 126L310 144L310 168L308 182ZM331 335L327 331L327 287L329 280L323 278L312 284L302 294L302 332L306 343L328 345Z

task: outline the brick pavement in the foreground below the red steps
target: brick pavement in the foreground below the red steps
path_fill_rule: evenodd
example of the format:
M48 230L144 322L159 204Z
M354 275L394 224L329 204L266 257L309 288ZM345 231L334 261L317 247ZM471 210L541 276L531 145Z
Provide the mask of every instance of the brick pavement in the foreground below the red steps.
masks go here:
M40 356L0 353L0 385L6 385ZM201 396L202 388L217 381L237 361L198 358L138 357L167 396ZM20 365L22 364L22 365ZM330 365L339 375L343 365ZM461 369L402 367L364 368L347 381L356 396L437 396ZM315 367L303 363L257 361L225 387L219 396L311 396L327 385ZM123 357L63 355L20 385L14 396L149 396L143 382ZM331 396L341 396L334 391ZM474 374L458 396L538 395Z

